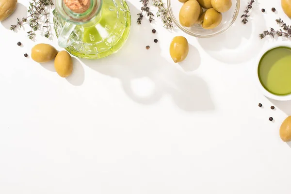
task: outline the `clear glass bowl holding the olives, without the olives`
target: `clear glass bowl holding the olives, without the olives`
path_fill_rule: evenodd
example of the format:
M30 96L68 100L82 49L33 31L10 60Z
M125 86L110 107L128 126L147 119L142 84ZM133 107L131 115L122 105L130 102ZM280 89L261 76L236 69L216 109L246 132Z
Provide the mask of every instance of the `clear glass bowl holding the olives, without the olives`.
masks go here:
M212 37L226 32L226 30L229 29L230 26L234 23L240 11L240 0L232 0L231 8L227 12L222 13L222 21L216 28L206 30L203 29L199 24L194 24L192 27L187 28L181 26L179 22L179 12L183 3L178 0L167 0L167 3L169 14L178 28L183 32L188 33L189 35L200 38Z

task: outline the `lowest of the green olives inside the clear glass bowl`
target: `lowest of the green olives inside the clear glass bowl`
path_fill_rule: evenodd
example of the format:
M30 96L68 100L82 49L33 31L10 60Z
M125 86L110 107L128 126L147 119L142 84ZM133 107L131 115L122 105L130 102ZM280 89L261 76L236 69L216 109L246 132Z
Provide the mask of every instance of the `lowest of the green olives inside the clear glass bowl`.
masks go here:
M215 9L210 8L200 16L199 20L202 28L213 29L221 23L222 14Z

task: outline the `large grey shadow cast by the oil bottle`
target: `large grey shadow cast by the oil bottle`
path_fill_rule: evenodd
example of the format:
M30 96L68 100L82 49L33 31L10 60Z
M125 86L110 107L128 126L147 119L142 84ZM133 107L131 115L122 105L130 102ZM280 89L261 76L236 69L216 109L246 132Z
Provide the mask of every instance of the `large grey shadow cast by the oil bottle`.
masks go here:
M207 83L195 72L185 72L194 71L200 65L198 50L191 46L189 59L181 63L182 67L175 64L168 50L162 53L162 43L153 42L152 32L148 30L152 29L151 24L138 25L136 14L139 10L128 4L132 16L131 32L123 48L109 57L95 61L81 59L81 62L98 73L117 78L128 97L137 103L153 104L170 95L184 111L214 110ZM168 43L165 46L169 47L173 37L163 40ZM146 49L147 45L150 49ZM192 63L193 58L198 59L197 64Z

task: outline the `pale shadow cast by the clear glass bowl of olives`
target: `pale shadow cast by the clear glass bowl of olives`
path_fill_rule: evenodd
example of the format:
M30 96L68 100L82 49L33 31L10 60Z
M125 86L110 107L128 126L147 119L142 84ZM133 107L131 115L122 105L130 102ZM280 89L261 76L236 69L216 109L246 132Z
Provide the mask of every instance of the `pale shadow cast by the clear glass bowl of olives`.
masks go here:
M246 4L241 4L239 16L234 24L224 33L210 37L198 38L198 43L213 58L227 64L240 64L256 57L265 43L260 40L259 34L266 30L266 22L263 13L256 12L259 5L254 4L253 10L248 18L249 22L243 24L243 11ZM259 23L253 22L256 18Z

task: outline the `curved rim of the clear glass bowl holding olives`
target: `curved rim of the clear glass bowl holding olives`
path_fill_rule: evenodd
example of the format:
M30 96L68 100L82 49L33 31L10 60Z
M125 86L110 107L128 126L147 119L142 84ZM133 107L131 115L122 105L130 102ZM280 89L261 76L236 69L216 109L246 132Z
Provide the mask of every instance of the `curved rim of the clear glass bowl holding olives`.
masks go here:
M167 6L168 6L168 10L169 10L169 14L170 14L170 17L172 18L172 20L174 21L174 23L176 24L176 26L178 26L178 28L191 35L191 36L194 36L194 37L198 37L198 38L208 38L208 37L213 37L213 36L216 36L216 35L219 35L219 34L222 34L223 32L226 32L231 26L232 24L235 22L236 18L238 17L239 15L239 12L240 12L240 0L236 0L236 10L234 12L234 17L232 18L232 21L231 23L224 29L222 29L221 31L218 31L218 32L215 32L213 34L210 34L210 35L199 35L199 34L195 34L194 32L190 31L190 30L187 30L185 29L184 27L182 27L179 22L176 20L174 14L173 14L173 10L172 10L172 6L171 6L171 0L167 0Z

